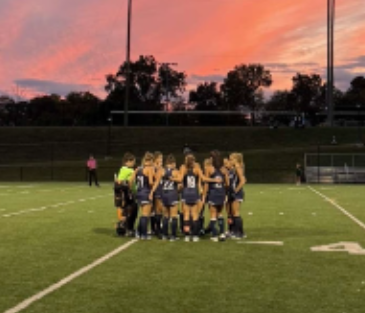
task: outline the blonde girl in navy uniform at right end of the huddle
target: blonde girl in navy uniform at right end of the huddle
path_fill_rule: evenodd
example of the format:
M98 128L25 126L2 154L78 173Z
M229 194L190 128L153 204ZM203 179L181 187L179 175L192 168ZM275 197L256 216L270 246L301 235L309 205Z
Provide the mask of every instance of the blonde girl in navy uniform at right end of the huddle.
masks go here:
M244 199L243 186L246 184L243 156L241 153L232 153L229 157L234 172L230 185L231 211L234 221L234 238L245 238L243 220L240 214L241 203Z

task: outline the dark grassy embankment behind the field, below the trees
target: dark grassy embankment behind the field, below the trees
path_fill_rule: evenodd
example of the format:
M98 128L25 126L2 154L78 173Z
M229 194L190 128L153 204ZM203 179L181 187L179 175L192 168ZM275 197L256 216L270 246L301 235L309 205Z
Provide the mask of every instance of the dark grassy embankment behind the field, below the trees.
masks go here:
M339 143L331 147L332 137ZM112 160L101 159L108 152L107 128L3 128L0 130L1 180L84 180L89 153L99 160L99 176L109 180L120 165L124 152L138 157L146 150L174 153L188 143L203 160L212 149L242 151L247 176L252 182L289 182L296 162L305 153L363 152L355 147L359 133L353 128L312 128L305 130L267 128L118 128L111 131ZM24 168L20 168L23 166ZM53 169L51 169L53 167Z

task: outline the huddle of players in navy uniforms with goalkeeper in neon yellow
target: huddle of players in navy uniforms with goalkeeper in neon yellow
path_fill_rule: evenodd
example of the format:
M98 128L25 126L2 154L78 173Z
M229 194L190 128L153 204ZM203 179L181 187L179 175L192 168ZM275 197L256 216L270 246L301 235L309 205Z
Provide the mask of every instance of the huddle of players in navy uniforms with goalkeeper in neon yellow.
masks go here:
M214 150L204 160L202 169L192 153L186 154L184 164L177 168L173 155L164 160L160 152L146 152L141 166L134 167L135 157L126 153L123 167L115 177L119 235L134 235L139 208L136 236L142 240L150 238L149 223L151 233L162 240L175 241L178 229L185 241L197 242L206 233L211 234L213 241L224 241L227 236L245 237L240 215L246 183L242 154L232 153L223 159ZM208 227L204 219L206 207Z

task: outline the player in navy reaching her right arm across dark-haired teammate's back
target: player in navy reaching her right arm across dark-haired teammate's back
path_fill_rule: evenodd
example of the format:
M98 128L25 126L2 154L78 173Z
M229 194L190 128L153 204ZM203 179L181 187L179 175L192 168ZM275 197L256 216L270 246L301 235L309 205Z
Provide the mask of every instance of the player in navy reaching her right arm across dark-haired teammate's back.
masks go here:
M219 183L221 178L206 177L198 163L195 162L195 157L188 154L185 157L185 164L180 167L180 175L183 182L182 202L184 213L184 233L185 241L190 241L190 233L193 235L194 242L199 241L199 213L201 209L201 184L204 181ZM190 223L190 218L192 223ZM191 228L190 228L191 224Z

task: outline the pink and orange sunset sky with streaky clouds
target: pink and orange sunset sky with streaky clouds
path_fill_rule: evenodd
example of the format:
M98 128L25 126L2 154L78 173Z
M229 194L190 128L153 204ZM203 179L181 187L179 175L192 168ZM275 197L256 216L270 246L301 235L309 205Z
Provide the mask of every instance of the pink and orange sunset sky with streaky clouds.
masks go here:
M337 0L335 80L365 75L364 0ZM297 73L326 79L327 0L133 0L132 59L178 63L188 89L239 64L271 70L268 93ZM90 91L126 56L127 0L0 0L0 95Z

